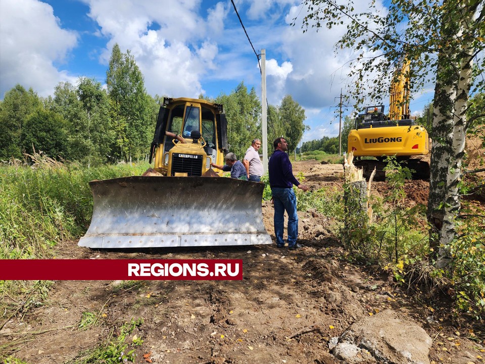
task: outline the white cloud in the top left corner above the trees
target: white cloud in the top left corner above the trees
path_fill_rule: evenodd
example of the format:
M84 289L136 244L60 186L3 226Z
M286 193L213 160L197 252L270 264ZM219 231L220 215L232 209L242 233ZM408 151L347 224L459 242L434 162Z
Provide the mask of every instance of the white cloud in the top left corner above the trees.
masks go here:
M59 81L75 82L59 70L77 43L76 33L62 29L53 8L36 0L0 2L0 98L17 83L40 96L52 94Z

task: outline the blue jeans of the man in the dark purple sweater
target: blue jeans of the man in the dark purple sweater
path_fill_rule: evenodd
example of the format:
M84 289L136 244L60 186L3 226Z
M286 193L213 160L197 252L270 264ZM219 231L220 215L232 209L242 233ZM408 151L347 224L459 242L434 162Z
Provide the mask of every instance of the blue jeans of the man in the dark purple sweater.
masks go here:
M297 214L297 197L293 188L272 188L274 203L274 235L276 244L284 245L283 226L284 211L288 214L288 247L297 243L298 237L298 214Z

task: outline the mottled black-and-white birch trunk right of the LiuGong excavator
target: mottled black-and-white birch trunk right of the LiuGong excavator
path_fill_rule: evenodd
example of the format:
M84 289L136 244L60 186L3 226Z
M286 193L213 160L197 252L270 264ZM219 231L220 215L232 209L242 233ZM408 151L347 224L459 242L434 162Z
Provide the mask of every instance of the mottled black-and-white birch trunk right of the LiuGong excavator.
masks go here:
M470 39L463 36L469 34L467 28L473 24L474 11L467 6L467 1L456 4L455 22L450 22L453 17L442 19L446 22L442 32L455 39L451 47L460 50L455 50L455 54L447 49L440 52L434 93L428 222L431 226L429 245L439 268L446 267L451 260L448 247L456 237L456 218L460 212L461 167L467 127L465 113L474 56L474 50L468 45Z

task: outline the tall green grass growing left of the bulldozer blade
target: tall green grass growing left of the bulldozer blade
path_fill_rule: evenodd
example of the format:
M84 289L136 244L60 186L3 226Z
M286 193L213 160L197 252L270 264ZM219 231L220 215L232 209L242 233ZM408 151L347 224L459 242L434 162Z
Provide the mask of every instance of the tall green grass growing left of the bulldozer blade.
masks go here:
M0 166L0 258L44 258L89 225L93 179L139 175L148 164Z

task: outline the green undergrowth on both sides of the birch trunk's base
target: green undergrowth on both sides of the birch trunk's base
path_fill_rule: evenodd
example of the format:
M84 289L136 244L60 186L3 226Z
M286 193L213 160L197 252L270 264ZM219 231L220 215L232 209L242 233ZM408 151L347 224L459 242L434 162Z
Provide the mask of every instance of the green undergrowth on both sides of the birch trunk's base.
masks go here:
M428 263L429 236L425 206L406 207L404 180L411 171L389 158L386 180L390 194L384 199L371 199L375 221L370 223L358 201L346 204L345 228L341 241L349 251L348 258L378 263L390 270L399 284L424 284L434 290L452 294L454 312L466 314L473 321L485 318L485 211L477 206L461 209L456 221L457 237L444 247L451 253L446 269ZM350 186L344 189L349 191ZM418 276L416 278L416 276ZM481 329L483 330L483 328Z

